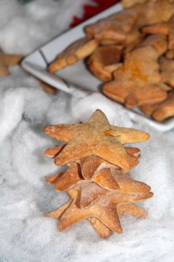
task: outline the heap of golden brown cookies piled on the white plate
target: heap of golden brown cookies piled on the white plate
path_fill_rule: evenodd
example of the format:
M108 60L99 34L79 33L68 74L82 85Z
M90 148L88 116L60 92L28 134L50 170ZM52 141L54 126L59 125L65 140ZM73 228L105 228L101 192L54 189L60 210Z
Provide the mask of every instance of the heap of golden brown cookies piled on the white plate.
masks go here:
M122 0L122 6L120 13L86 26L87 36L48 70L89 57L88 69L107 82L106 96L162 121L174 116L174 1Z

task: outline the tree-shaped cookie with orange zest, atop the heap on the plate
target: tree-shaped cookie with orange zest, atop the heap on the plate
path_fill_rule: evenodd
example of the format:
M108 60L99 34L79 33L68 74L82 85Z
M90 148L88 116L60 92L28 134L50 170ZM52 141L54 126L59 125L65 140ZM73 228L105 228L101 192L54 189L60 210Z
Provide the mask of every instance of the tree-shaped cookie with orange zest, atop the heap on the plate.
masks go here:
M103 93L128 108L164 101L167 94L159 87L162 76L158 56L151 46L128 53L124 65L113 73L115 80L103 86Z

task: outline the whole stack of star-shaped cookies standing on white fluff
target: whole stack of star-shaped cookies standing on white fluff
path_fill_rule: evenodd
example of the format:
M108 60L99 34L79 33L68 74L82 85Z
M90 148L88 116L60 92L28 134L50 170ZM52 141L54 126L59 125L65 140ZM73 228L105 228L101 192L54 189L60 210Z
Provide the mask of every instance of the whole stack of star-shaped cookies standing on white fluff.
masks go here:
M145 217L147 212L134 204L153 196L150 187L127 173L138 164L140 150L124 147L149 139L149 134L109 124L105 114L96 110L86 123L51 125L46 134L65 142L49 148L45 155L58 166L69 166L65 173L46 178L57 191L70 199L60 208L45 214L59 219L62 231L87 219L103 238L122 232L120 215Z

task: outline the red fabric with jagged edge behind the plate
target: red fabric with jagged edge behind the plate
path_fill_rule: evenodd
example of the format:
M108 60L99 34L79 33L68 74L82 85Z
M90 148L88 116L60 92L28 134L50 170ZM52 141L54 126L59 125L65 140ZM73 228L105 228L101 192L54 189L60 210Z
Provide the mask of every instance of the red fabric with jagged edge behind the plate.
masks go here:
M84 14L82 18L78 18L76 16L73 17L73 21L70 24L70 27L80 24L85 21L89 17L96 15L97 13L105 10L106 8L112 6L113 4L119 2L119 0L92 0L94 2L94 6L84 5L83 10Z

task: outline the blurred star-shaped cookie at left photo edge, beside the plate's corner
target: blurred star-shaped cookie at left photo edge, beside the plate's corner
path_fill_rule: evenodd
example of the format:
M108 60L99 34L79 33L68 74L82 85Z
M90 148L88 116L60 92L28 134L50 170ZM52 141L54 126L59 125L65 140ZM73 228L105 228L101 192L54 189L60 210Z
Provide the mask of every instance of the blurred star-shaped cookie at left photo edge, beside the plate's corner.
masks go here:
M8 67L18 64L23 56L16 54L3 54L0 52L0 75L9 75Z

